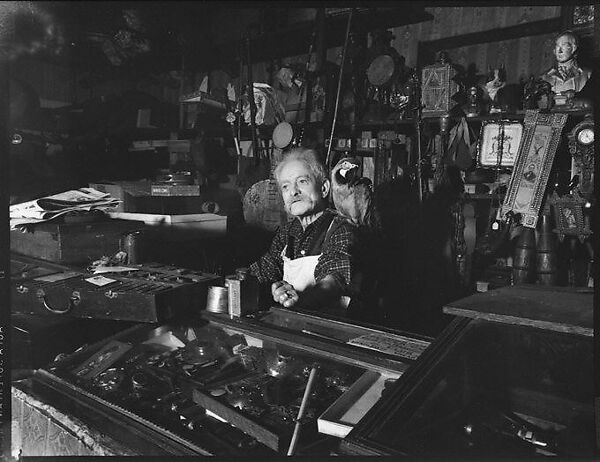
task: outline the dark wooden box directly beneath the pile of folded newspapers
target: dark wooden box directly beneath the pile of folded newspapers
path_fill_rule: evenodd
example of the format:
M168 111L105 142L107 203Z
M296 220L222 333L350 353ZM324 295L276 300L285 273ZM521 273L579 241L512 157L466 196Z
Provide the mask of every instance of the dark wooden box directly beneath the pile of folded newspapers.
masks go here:
M32 232L10 232L10 249L55 263L88 265L119 251L124 234L143 225L106 219L89 223L40 223Z

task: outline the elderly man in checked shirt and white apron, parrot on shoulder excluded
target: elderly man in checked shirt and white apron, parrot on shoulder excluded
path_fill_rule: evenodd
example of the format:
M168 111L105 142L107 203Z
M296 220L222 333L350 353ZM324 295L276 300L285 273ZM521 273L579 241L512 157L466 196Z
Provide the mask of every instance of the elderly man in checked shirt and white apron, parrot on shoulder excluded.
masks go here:
M327 208L330 181L315 151L290 150L274 175L285 209L295 218L279 228L250 272L271 283L273 300L284 307L339 314L348 302L353 226Z

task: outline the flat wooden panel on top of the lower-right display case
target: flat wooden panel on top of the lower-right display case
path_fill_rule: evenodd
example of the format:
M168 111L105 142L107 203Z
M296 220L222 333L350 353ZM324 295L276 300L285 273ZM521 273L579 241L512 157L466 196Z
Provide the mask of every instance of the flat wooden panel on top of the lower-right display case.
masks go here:
M452 302L444 313L593 336L593 295L590 289L502 287Z

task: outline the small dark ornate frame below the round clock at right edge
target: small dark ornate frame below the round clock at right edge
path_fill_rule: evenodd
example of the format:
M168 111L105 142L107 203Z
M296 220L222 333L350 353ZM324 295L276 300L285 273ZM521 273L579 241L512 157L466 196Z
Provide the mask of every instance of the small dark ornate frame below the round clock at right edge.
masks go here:
M565 236L576 236L583 242L592 234L589 223L583 215L585 202L586 200L577 193L562 197L554 193L550 198L556 225L554 232L558 234L561 242Z

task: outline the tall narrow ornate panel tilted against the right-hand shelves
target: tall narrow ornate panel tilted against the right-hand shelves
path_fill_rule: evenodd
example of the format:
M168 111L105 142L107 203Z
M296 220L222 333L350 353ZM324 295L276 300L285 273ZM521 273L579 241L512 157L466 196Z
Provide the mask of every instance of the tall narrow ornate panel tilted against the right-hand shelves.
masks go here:
M522 140L508 183L508 189L498 218L505 219L509 212L521 215L521 223L528 228L537 225L550 169L567 121L567 114L525 113Z

